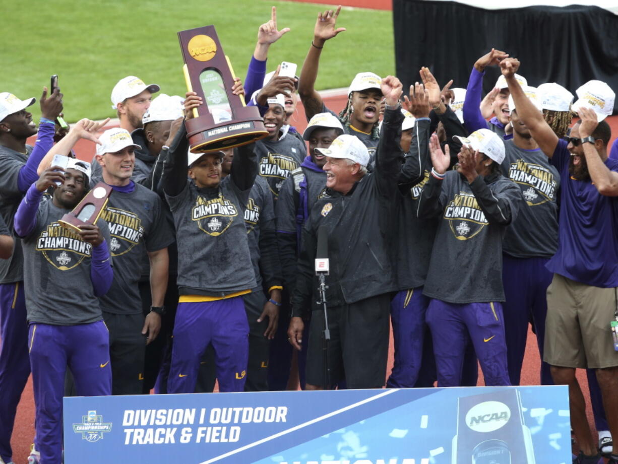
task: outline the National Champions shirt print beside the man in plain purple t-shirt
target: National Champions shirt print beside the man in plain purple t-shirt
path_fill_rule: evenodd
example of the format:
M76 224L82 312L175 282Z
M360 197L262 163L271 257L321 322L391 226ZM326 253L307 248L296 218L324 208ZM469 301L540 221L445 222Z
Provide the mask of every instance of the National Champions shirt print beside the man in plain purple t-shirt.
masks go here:
M519 183L528 206L541 205L555 198L556 177L544 166L518 159L510 164L509 177L513 182Z

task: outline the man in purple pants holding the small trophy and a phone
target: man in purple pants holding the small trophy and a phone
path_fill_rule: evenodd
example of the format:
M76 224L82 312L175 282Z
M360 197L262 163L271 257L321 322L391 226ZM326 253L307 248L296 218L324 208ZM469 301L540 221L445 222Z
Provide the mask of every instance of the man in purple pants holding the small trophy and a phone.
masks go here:
M103 219L80 230L58 220L88 191L90 166L69 159L66 171L46 169L15 214L22 237L28 352L36 403L36 452L28 462L61 462L62 396L67 366L77 394L111 394L109 333L98 297L113 279L109 230ZM60 184L59 186L57 186ZM43 193L54 187L53 198Z

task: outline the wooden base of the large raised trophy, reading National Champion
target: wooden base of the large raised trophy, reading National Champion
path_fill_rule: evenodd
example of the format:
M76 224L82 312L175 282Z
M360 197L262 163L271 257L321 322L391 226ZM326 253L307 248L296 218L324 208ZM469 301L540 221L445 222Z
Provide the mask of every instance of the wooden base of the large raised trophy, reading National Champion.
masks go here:
M211 114L198 116L186 121L187 138L192 153L208 153L235 146L248 145L268 137L268 131L255 106L245 106L236 110L239 119L213 124ZM208 129L204 129L208 127Z

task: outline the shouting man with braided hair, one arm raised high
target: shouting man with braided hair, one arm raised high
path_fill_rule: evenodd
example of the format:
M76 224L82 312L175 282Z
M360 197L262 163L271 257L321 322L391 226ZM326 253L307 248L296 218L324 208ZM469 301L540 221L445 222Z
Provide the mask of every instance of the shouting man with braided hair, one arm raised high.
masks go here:
M318 76L318 64L324 43L333 38L345 28L336 28L337 11L326 10L318 13L318 20L313 29L313 41L303 62L303 69L298 82L298 95L305 107L307 120L315 114L330 111L320 94L315 90L315 80ZM348 101L344 110L339 113L339 120L344 127L345 133L355 135L363 142L369 151L370 160L367 165L369 171L373 171L373 162L379 139L379 107L383 99L380 90L382 79L373 72L358 73L348 90ZM335 116L337 116L335 114Z

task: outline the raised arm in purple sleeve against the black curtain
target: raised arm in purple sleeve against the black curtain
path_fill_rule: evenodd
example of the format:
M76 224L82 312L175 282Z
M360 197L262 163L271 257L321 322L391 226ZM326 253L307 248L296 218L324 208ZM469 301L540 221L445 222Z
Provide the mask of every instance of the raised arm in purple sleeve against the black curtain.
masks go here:
M509 55L503 51L494 48L488 54L481 56L476 60L470 80L466 88L464 99L464 125L468 132L472 133L478 129L487 129L487 121L481 113L481 90L483 90L483 76L485 75L485 67L497 65L502 59Z

